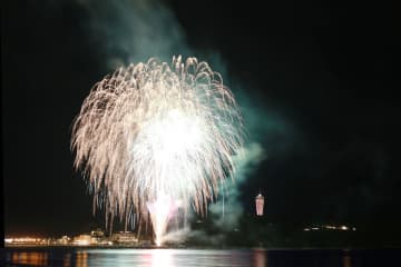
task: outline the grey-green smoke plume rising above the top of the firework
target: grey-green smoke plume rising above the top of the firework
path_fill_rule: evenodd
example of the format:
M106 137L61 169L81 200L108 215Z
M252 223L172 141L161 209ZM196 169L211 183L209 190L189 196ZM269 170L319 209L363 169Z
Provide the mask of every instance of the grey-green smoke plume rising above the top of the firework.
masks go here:
M192 55L172 11L154 0L78 0L88 13L88 34L104 52L108 67L157 57Z

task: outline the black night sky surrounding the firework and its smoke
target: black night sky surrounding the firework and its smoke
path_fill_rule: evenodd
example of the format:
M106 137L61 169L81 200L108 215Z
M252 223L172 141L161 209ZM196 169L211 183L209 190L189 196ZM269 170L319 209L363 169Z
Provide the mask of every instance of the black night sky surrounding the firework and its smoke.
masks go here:
M155 56L127 56L120 40L133 34L136 42L144 32L125 31L124 20L114 27L117 13L97 17L90 0L58 2L1 10L6 235L75 234L99 220L72 168L71 122L92 85L113 71L110 59ZM158 24L160 4L149 7L153 27L169 32L174 21L183 53L224 62L226 82L244 96L239 105L247 99L256 113L248 130L266 157L238 185L245 212L262 189L275 222L401 222L400 29L391 4L162 1L166 24ZM150 38L158 32L146 30ZM278 122L264 127L272 117Z

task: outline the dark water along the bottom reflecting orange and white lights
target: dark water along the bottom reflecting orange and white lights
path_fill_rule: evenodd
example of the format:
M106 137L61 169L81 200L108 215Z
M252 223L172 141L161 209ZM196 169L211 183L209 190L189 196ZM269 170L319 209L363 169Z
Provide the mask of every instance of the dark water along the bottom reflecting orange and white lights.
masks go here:
M123 249L4 248L0 266L401 267L398 249Z

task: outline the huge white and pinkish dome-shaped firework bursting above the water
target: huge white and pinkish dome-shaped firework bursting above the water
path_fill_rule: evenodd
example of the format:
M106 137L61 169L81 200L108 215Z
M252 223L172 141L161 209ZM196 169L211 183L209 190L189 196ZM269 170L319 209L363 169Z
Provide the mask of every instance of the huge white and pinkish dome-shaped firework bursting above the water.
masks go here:
M72 127L75 167L88 177L94 211L105 207L110 228L115 217L127 227L134 214L146 220L149 211L159 244L169 199L204 215L235 172L241 120L207 62L174 57L172 65L150 59L119 68L92 88Z

